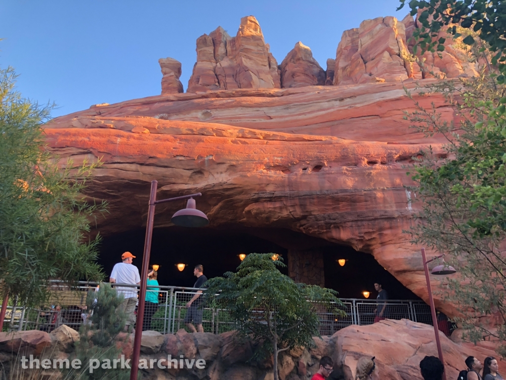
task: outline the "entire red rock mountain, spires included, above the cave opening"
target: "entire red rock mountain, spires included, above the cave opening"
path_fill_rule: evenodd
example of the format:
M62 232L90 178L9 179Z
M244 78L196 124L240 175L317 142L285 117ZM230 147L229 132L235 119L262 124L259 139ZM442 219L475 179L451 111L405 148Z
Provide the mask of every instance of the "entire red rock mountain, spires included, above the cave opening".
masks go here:
M427 299L418 247L402 232L416 207L406 171L429 144L441 154L443 139L409 128L403 117L414 102L404 87L421 106L434 103L443 120L455 115L441 96L417 95L415 80L436 79L408 57L414 27L410 17L366 20L343 33L324 71L302 43L278 68L258 21L244 17L235 37L221 27L199 37L187 93L180 63L160 59L162 95L56 118L45 127L49 148L75 164L103 162L88 195L106 200L109 213L95 232L145 225L156 179L158 198L201 192L197 205L211 228L277 227L349 245ZM433 60L449 77L460 75ZM155 226L172 225L180 206L159 206ZM297 251L288 257L294 279L324 282L317 251L286 248Z

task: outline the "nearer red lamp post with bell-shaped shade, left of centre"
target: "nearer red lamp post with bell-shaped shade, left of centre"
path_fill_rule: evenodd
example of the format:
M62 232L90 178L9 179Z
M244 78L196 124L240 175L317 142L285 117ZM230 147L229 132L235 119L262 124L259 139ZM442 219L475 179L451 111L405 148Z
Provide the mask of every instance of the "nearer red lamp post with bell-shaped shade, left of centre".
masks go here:
M151 239L153 237L153 221L155 216L155 206L160 203L179 201L188 199L185 209L176 212L171 221L176 225L183 227L203 227L209 223L207 216L202 211L195 208L193 197L200 197L202 194L191 194L182 197L168 198L157 201L156 188L158 181L151 181L151 193L149 196L148 221L146 224L146 239L144 241L144 255L142 257L141 285L139 289L139 306L137 308L137 329L135 330L134 352L132 355L132 369L130 370L130 380L137 380L139 371L139 356L141 353L142 323L144 322L144 305L146 301L146 280L149 268L149 256L151 254Z

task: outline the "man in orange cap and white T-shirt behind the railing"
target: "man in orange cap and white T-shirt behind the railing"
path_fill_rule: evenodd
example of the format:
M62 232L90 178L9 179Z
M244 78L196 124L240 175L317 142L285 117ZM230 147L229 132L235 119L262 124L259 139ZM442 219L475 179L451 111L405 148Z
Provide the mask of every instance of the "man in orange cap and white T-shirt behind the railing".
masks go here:
M109 282L111 284L132 284L139 285L141 283L141 276L139 269L132 265L132 260L135 256L130 252L125 252L121 255L122 262L114 265L111 272ZM124 301L119 305L118 310L126 314L125 331L134 332L134 324L136 317L134 315L135 307L137 305L137 289L128 286L116 287L118 293L123 294Z

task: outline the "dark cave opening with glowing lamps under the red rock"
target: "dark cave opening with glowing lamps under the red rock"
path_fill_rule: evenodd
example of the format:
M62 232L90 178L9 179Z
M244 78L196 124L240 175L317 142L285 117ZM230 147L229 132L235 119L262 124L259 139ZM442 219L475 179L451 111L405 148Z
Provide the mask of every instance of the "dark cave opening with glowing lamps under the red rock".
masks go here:
M107 236L99 247L99 263L106 275L120 261L124 251L135 256L140 269L145 230L138 229ZM204 266L207 278L234 272L240 263L240 253L278 253L286 268L281 269L297 282L322 285L339 292L341 298L364 298L369 291L375 298L374 282L381 281L390 299L420 299L387 272L372 255L353 248L330 243L302 233L277 228L183 229L162 227L153 231L151 262L158 264L160 285L192 287L193 267ZM347 260L342 267L336 260ZM187 264L182 272L176 264Z

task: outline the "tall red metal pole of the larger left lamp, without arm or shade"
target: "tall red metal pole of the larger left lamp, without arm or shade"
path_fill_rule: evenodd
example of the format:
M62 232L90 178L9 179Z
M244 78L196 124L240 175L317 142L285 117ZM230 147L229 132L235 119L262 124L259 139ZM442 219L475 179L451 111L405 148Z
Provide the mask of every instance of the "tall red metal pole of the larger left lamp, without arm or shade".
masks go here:
M153 237L153 220L155 216L156 188L158 181L151 181L151 195L149 196L148 221L146 224L146 240L144 241L144 255L142 257L141 285L139 291L139 306L137 308L137 328L135 329L134 352L132 355L132 369L130 380L137 380L139 372L139 356L141 355L142 324L144 322L144 305L146 301L146 282L148 277L149 256L151 254L151 238Z

